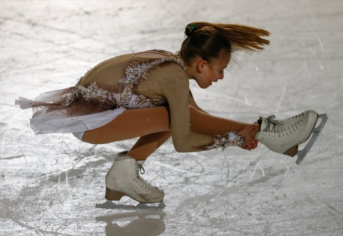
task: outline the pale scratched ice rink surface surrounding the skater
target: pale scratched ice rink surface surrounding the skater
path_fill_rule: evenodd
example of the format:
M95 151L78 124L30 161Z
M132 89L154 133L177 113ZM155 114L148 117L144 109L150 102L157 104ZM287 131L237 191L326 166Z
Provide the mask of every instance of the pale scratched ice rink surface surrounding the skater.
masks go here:
M177 153L168 140L143 175L164 202L106 203L105 174L135 140L36 135L14 100L74 86L116 55L176 52L194 21L271 32L220 83L191 84L200 107L244 122L312 109L327 125L301 165L263 145ZM1 0L0 43L0 235L343 235L343 1Z

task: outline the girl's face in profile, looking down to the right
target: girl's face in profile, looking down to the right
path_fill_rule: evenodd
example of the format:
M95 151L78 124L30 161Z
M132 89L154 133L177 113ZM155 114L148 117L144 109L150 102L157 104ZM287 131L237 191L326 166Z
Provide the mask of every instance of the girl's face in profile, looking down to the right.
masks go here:
M219 55L219 58L212 58L210 62L199 57L191 65L192 68L187 68L187 73L190 72L188 74L197 81L200 88L208 88L213 82L224 78L224 69L229 64L231 56L224 49Z

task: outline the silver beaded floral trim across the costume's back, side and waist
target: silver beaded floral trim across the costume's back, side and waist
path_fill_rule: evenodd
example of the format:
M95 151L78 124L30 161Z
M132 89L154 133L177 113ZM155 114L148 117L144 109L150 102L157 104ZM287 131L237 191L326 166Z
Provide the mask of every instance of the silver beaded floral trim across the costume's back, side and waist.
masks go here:
M119 84L123 85L121 92L111 92L98 88L96 82L91 83L87 87L83 87L78 83L73 91L66 97L66 100L62 105L72 105L79 97L83 97L86 101L95 99L99 102L111 105L114 108L123 107L126 109L156 107L166 104L166 99L148 99L142 94L133 93L133 86L138 84L139 81L147 80L148 70L161 63L175 62L185 70L182 60L175 54L164 50L153 51L162 52L166 54L166 57L158 58L147 63L137 61L128 65L125 69L126 76L118 81ZM82 77L80 80L81 79Z

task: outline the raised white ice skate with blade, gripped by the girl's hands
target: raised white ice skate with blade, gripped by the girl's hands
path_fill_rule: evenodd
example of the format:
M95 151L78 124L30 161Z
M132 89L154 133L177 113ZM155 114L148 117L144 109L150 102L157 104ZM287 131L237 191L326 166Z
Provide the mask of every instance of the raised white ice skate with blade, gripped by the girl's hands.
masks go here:
M321 118L321 122L317 128L314 128L318 117ZM296 164L299 165L324 128L328 116L326 114L318 115L315 111L305 111L285 120L274 119L274 115L260 117L261 127L255 135L255 140L274 152L289 156L297 154ZM305 143L311 133L313 135L305 148L298 151L298 145Z

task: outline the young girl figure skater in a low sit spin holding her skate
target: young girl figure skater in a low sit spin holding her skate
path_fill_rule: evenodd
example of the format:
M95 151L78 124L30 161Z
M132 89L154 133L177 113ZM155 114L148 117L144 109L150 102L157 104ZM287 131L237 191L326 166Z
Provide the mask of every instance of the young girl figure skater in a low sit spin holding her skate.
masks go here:
M224 78L224 69L238 50L263 50L269 41L263 29L194 22L177 54L151 50L106 60L70 88L16 101L32 108L35 133L72 132L79 140L105 144L139 137L130 151L115 156L106 175L108 200L127 195L142 203L163 201L164 192L139 175L144 161L169 137L177 152L239 146L251 150L258 141L278 153L295 155L317 121L306 111L287 120L260 117L247 124L213 116L199 108L189 80L201 88ZM213 101L216 102L216 101Z

